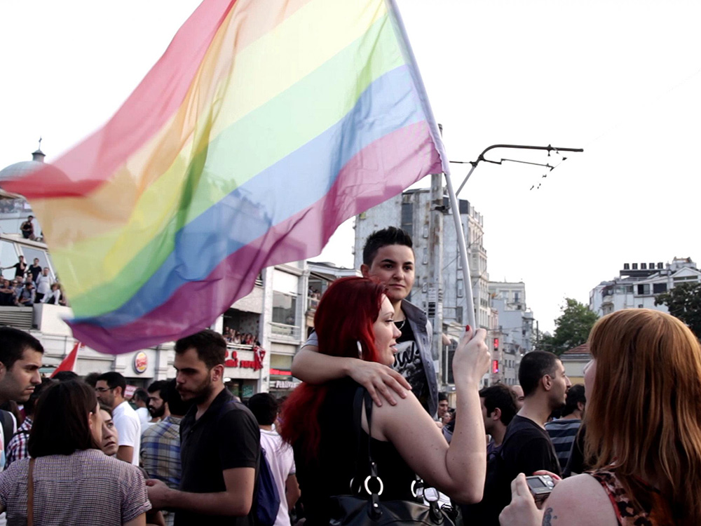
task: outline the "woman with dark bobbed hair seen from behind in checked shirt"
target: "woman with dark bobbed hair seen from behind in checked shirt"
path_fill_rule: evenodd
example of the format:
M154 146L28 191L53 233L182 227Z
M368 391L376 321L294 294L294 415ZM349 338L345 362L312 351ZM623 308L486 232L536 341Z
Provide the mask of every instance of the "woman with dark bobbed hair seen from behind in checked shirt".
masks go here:
M100 450L102 414L95 391L60 382L39 397L29 455L0 475L0 511L8 524L27 523L32 469L35 525L143 526L151 509L135 466Z

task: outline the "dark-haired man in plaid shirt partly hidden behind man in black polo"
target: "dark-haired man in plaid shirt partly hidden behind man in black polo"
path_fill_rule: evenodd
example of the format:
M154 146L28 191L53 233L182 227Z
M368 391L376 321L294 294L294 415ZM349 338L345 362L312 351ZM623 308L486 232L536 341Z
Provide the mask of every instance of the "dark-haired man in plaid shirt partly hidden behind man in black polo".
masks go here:
M149 386L158 388L162 398L163 420L149 426L141 438L141 465L150 478L162 480L168 487L177 490L182 473L180 463L180 422L191 407L183 402L177 392L175 379L158 380ZM153 391L156 392L156 391ZM164 510L165 524L170 526L175 520L175 513Z

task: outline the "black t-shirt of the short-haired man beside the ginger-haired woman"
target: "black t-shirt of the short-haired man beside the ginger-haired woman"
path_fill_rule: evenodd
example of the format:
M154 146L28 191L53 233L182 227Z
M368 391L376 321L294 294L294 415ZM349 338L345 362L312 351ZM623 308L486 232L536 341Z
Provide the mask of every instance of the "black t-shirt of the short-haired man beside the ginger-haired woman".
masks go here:
M501 450L489 459L482 502L462 506L465 524L499 526L499 513L511 501L511 481L545 469L560 474L560 463L547 431L536 422L515 416L509 424Z

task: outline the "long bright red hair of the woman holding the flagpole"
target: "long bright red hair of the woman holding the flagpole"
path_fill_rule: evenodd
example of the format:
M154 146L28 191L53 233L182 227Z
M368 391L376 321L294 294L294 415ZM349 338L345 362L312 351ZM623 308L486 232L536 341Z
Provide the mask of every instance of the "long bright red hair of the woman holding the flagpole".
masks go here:
M372 325L379 316L384 293L384 285L368 278L334 281L322 296L314 316L319 352L378 362ZM358 342L361 356L358 356ZM290 444L301 441L309 459L316 457L321 440L318 414L327 389L324 384L304 382L292 391L283 406L278 432Z

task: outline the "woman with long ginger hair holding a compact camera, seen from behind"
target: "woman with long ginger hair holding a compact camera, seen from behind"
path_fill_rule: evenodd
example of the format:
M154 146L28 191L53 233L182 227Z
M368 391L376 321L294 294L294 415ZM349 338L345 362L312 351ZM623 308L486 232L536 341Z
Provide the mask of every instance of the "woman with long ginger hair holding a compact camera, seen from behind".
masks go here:
M648 309L601 318L585 368L592 471L560 482L538 511L523 475L502 525L701 524L701 346Z

